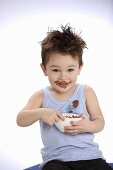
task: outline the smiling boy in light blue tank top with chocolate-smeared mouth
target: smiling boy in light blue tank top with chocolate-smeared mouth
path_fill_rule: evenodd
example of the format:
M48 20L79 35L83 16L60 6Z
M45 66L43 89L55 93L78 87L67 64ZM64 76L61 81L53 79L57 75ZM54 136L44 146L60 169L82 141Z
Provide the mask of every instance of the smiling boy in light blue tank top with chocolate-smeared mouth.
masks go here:
M94 133L104 128L98 99L91 87L77 83L83 67L82 54L86 42L66 25L61 31L51 30L41 42L44 75L50 86L33 94L18 113L17 124L29 126L40 122L44 147L41 149L42 170L110 170L112 169L93 142ZM61 133L55 122L64 120L63 110L74 100L73 109L83 119L71 122Z

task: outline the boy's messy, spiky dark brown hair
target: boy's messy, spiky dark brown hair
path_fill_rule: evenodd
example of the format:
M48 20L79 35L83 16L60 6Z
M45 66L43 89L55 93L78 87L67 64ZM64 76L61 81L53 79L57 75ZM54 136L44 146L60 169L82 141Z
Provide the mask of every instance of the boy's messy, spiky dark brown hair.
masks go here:
M83 64L83 49L87 48L86 42L80 37L80 34L76 34L69 25L61 26L61 31L50 30L47 32L47 37L41 41L41 46L42 64L44 66L46 66L52 54L60 53L71 55L73 58L78 57L80 67Z

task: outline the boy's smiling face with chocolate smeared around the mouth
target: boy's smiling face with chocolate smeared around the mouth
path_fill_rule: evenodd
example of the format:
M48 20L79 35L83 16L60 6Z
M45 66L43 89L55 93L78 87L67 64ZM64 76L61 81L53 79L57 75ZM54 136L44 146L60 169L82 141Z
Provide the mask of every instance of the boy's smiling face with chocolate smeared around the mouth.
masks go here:
M58 92L66 92L75 88L77 76L80 74L82 66L79 68L78 58L71 55L59 53L50 56L46 67L41 64L45 76L48 76L53 89Z

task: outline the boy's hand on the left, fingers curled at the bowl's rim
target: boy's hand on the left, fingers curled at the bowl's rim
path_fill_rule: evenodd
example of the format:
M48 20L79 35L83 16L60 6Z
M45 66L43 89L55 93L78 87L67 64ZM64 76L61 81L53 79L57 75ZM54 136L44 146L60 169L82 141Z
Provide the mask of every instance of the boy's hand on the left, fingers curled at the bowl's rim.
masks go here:
M55 109L43 109L40 119L49 125L53 125L55 122L64 120L65 118Z

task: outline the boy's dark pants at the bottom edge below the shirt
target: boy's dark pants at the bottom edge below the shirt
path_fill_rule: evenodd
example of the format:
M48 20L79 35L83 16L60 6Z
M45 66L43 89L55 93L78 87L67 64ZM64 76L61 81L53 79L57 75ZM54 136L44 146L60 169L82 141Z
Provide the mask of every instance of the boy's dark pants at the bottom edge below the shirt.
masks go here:
M112 168L100 158L70 162L52 160L44 165L43 170L112 170Z

